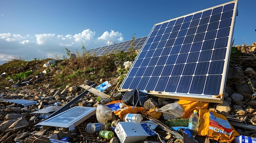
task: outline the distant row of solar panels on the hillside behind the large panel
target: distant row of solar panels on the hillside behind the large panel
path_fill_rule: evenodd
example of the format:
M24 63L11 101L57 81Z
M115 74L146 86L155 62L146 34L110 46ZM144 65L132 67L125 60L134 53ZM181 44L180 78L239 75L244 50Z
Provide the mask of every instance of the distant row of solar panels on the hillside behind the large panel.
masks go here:
M140 50L143 44L145 43L146 39L147 39L147 36L135 39L133 43L135 50ZM128 52L128 49L132 48L130 42L132 41L124 41L124 42L115 43L112 45L106 45L103 47L90 49L88 50L88 54L92 56L94 55L103 56L104 54L108 54L108 53L117 53L118 50Z

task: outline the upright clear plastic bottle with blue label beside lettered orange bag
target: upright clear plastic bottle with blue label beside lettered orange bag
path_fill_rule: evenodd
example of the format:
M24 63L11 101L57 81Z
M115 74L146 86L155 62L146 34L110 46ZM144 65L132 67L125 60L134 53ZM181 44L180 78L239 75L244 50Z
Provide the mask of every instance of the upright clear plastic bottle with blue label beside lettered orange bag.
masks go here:
M198 133L198 126L200 124L198 111L194 110L194 113L189 117L189 130L191 132L191 138L194 139Z

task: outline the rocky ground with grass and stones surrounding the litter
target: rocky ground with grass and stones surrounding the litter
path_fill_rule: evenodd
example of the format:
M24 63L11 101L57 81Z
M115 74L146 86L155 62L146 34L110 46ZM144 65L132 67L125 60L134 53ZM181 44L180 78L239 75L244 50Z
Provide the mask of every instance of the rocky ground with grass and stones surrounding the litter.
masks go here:
M227 85L224 95L224 103L209 103L208 109L225 115L240 135L256 137L256 58L252 45L239 45L231 51L229 63ZM1 143L37 143L38 137L41 142L47 143L43 137L49 137L53 134L62 137L69 137L72 143L118 143L115 137L112 140L98 137L97 134L84 134L85 132L76 128L72 132L48 128L42 130L40 126L35 126L44 118L38 114L31 114L34 111L46 108L48 106L65 106L76 96L81 95L85 89L81 85L101 84L108 81L111 87L103 91L110 95L113 100L120 100L123 94L117 92L118 85L124 79L128 69L124 67L125 61L132 61L137 55L137 51L130 53L110 54L101 57L76 57L66 60L34 60L30 62L22 60L13 60L0 66L0 96L2 99L23 99L36 102L36 104L23 106L12 102L0 100L0 142ZM3 73L3 74L2 74ZM146 110L151 107L162 107L173 103L175 99L159 100L150 96L152 106L146 106ZM111 100L107 101L110 102ZM91 92L83 98L72 103L74 106L97 107L97 104L106 104L106 99L101 100L97 95ZM145 119L145 118L144 118ZM116 126L120 121L118 116L113 115L110 120L111 126ZM163 117L159 121L164 123ZM85 121L97 122L95 117L90 117ZM240 123L248 126L241 126ZM148 141L164 140L166 143L183 142L174 135L167 133L162 129L156 129L159 133L157 138L148 137ZM83 137L86 136L87 137ZM198 139L205 142L205 137ZM38 141L38 140L37 140ZM40 142L40 143L41 143ZM49 142L49 141L48 141ZM39 143L39 142L38 142Z

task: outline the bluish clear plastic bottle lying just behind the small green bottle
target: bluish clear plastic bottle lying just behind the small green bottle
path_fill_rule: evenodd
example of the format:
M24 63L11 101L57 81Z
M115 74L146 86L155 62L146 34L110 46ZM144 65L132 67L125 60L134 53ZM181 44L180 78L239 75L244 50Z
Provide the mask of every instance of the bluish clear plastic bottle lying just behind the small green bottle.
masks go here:
M107 130L108 125L106 123L89 123L86 125L85 131L89 134L99 132L101 130Z

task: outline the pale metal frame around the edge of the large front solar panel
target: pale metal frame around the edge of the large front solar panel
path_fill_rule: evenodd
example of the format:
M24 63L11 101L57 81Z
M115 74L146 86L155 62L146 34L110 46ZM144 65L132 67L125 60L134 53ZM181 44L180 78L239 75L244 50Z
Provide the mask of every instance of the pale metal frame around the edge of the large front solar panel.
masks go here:
M225 6L225 5L231 4L231 3L234 3L234 9L233 9L232 17L231 17L231 26L230 26L230 30L229 30L229 35L226 37L226 38L228 38L227 47L225 47L227 50L225 51L226 52L225 59L223 60L224 61L223 71L222 71L222 74L220 74L221 75L221 83L220 83L220 89L218 89L219 90L219 94L216 94L216 95L205 95L205 94L191 94L191 93L187 94L187 93L165 92L165 91L155 91L155 90L149 91L149 90L145 90L145 89L144 90L138 89L138 90L140 90L140 91L142 91L144 93L149 93L149 94L158 96L160 98L173 98L173 99L183 99L183 100L223 103L223 100L224 100L223 93L225 92L225 85L226 85L226 80L227 80L227 69L229 67L229 57L230 57L231 46L232 46L232 37L233 37L233 31L234 31L234 23L235 23L235 20L236 20L236 15L238 13L238 10L237 10L238 0L234 0L234 1L231 1L231 2L226 2L226 3L223 3L223 4L217 5L217 6L213 6L213 7L208 8L208 9L204 9L204 10L201 10L201 11L190 13L188 15L184 15L184 16L181 16L181 17L177 17L177 18L174 18L174 19L171 19L171 20L167 20L167 21L155 24L153 26L151 32L150 32L150 35L151 35L151 33L153 32L155 26L157 26L159 24L163 24L163 23L166 23L166 22L171 22L173 20L178 20L178 19L180 19L182 17L187 17L189 15L194 15L196 13L204 12L204 11L207 11L207 10L210 10L210 9L214 9L214 8L217 8L217 7L220 7L220 6ZM129 70L128 74L127 74L127 76L125 77L124 81L122 82L122 84L121 84L121 86L120 86L120 88L118 90L119 92L133 90L133 89L123 88L123 87L124 87L125 84L130 84L130 85L134 84L132 82L126 83L126 80L130 76L131 69L134 67L138 57L141 54L141 51L145 48L145 45L146 45L148 39L150 38L150 35L147 37L146 42L144 43L144 45L141 48L137 58L135 59L135 62L133 63L132 67L130 68L130 70ZM152 41L152 43L153 43L153 41ZM132 78L132 77L133 76L131 76L130 78ZM128 81L129 80L127 80L127 82ZM141 81L139 81L139 84L147 84L147 83L141 83ZM129 87L130 87L130 85L129 85ZM204 85L205 85L205 83L204 83ZM162 86L166 86L166 85L162 85Z

